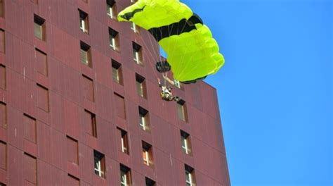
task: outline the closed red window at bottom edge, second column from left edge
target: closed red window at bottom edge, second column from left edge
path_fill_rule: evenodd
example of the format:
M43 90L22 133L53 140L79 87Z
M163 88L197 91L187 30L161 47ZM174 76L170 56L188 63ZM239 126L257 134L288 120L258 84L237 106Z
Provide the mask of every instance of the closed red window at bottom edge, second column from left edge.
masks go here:
M29 182L29 185L37 185L37 159L27 153L23 158L23 179Z

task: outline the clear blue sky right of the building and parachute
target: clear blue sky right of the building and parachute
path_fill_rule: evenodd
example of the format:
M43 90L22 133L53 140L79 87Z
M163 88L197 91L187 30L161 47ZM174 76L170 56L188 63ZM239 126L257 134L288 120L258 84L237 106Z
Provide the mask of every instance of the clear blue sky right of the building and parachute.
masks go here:
M332 1L183 2L226 58L206 82L232 185L333 185Z

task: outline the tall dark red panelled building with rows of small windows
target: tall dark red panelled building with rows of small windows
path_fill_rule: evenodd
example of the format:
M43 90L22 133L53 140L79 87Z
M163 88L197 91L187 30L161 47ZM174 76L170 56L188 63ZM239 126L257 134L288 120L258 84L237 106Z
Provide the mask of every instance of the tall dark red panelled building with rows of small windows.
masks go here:
M230 185L216 90L159 98L131 3L0 0L0 185Z

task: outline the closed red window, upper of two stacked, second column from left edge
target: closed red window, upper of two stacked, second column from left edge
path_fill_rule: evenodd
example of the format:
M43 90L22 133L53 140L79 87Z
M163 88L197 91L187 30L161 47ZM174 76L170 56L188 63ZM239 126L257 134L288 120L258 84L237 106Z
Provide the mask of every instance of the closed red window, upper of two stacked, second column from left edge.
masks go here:
M37 142L37 126L36 119L28 116L27 114L23 115L23 126L24 126L24 137L25 140L29 140L30 142Z

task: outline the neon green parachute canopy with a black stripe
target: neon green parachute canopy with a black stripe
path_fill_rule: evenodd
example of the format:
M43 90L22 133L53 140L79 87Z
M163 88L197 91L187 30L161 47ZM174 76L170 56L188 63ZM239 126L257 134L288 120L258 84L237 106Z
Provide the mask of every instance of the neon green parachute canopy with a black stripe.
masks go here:
M118 14L148 30L167 54L174 79L188 83L216 73L224 64L209 28L178 0L138 0Z

